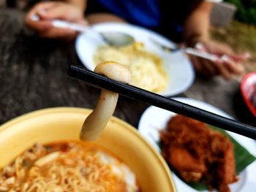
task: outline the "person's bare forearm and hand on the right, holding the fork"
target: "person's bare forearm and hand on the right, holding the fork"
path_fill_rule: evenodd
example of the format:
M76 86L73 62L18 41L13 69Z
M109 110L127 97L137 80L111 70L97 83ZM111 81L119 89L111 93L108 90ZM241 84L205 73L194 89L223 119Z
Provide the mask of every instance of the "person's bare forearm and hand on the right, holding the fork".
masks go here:
M184 40L187 46L196 47L207 53L217 55L215 61L189 55L198 74L205 77L221 75L226 80L242 74L242 61L246 55L237 55L227 45L214 42L209 37L210 14L213 4L203 1L187 18L184 23ZM200 45L200 46L198 46Z

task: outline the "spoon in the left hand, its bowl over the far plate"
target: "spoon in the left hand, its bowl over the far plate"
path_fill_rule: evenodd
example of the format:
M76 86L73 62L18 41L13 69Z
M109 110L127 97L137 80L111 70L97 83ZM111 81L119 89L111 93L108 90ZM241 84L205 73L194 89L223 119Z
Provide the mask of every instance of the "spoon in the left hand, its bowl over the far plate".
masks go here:
M32 15L31 20L37 21L39 17L37 15ZM131 45L135 42L135 39L129 34L125 34L119 31L108 31L108 32L99 32L95 31L91 26L84 26L78 23L70 23L65 20L52 20L52 25L58 28L71 28L74 31L78 32L94 32L99 34L100 37L108 44L115 47L123 47Z

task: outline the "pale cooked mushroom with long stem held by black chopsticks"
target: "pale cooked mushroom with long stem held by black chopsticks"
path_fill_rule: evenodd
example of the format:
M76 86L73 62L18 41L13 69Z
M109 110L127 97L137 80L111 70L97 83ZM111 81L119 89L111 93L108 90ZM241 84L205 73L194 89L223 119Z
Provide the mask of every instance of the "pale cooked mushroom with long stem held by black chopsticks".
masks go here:
M124 83L131 82L129 70L114 61L98 64L94 72ZM81 140L96 140L103 131L116 109L118 93L102 89L97 106L86 118L80 131Z

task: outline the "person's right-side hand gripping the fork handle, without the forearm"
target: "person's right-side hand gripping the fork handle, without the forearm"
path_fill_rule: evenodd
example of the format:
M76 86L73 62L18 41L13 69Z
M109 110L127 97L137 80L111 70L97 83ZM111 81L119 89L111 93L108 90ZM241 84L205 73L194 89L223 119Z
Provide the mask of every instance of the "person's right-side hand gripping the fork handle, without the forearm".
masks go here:
M244 72L242 63L249 57L248 53L235 54L230 47L206 39L201 39L195 48L217 55L214 61L189 55L197 73L205 77L221 75L225 80L230 80Z

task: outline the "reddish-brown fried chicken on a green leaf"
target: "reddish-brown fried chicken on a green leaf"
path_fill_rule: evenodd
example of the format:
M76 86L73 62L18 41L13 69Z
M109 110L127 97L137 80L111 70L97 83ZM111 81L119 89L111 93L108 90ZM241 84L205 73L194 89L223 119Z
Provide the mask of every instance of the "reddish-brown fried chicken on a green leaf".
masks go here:
M233 144L198 120L176 115L160 132L162 155L186 181L204 181L229 191L236 182Z

